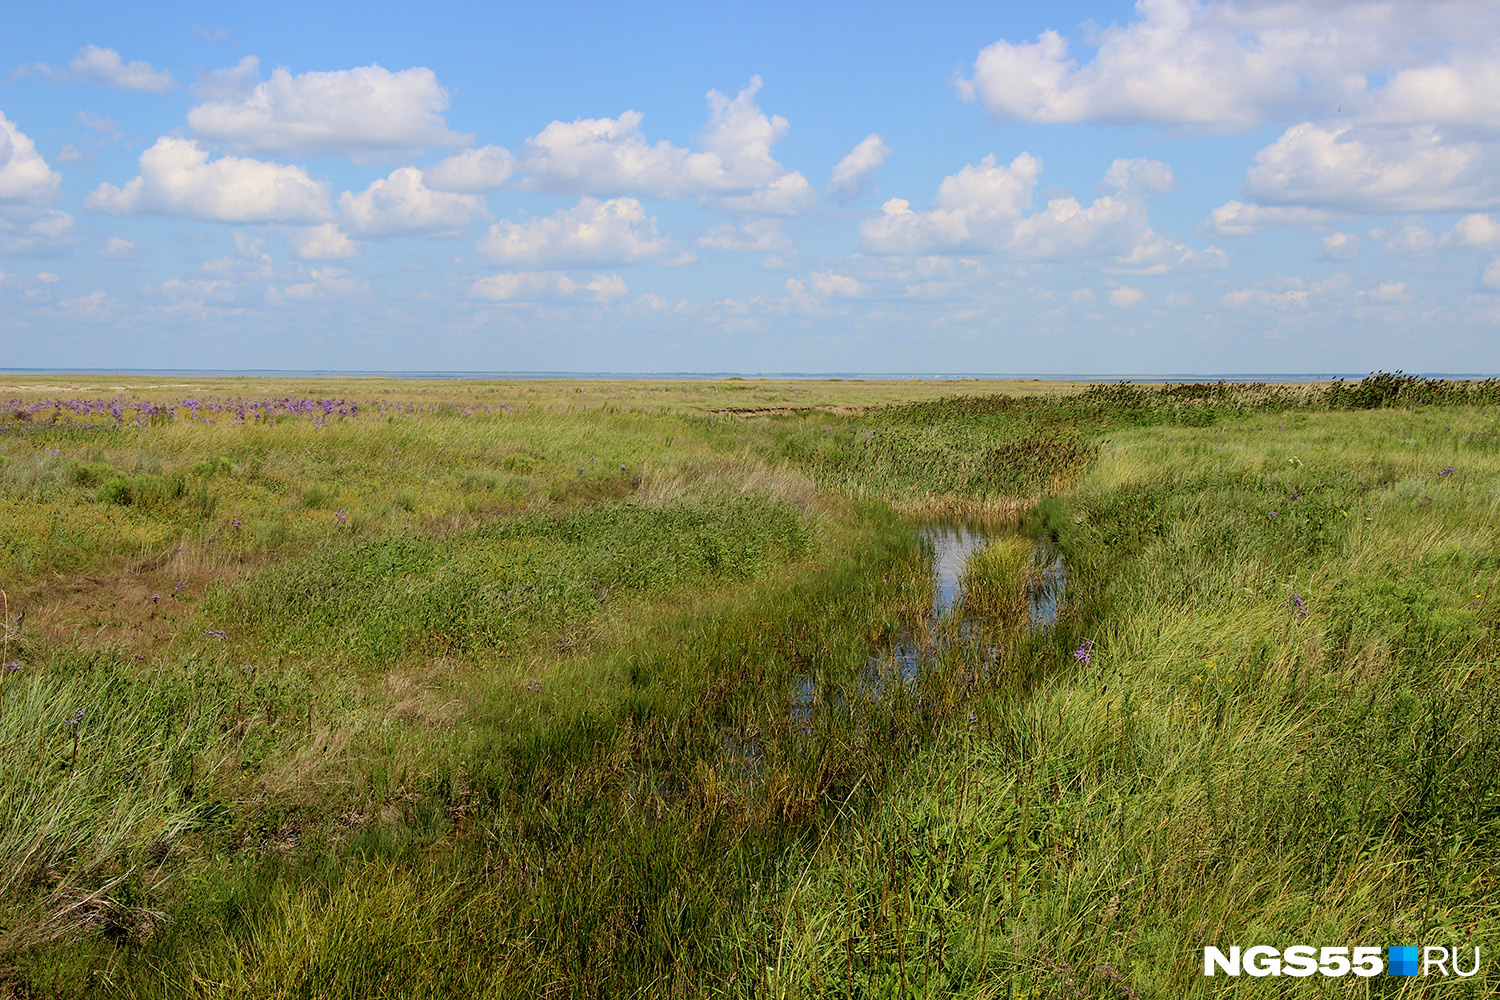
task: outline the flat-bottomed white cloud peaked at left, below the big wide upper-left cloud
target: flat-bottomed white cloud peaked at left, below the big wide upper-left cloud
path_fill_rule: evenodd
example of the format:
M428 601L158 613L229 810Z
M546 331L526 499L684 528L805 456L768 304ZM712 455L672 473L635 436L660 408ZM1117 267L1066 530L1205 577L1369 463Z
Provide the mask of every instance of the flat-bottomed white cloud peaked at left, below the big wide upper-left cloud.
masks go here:
M220 156L192 139L162 136L141 153L124 187L99 184L84 207L112 216L166 214L216 222L321 222L328 190L302 166Z

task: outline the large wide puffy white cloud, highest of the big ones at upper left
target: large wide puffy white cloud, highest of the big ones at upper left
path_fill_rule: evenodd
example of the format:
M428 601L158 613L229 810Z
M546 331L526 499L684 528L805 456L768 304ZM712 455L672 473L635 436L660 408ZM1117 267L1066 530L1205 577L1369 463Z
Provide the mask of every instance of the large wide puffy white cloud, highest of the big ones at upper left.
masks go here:
M207 138L255 153L310 156L336 153L378 159L429 145L464 145L471 136L448 130L442 111L448 91L436 75L416 66L390 72L376 64L296 76L284 66L249 93L242 61L206 81L216 96L188 112L188 124Z

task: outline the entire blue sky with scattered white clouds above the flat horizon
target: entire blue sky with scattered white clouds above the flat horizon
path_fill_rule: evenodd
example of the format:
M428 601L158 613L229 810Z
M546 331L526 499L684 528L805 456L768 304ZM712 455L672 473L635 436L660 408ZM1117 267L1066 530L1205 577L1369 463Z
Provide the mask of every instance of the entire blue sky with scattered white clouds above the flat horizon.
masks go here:
M1500 3L33 3L0 367L1500 372Z

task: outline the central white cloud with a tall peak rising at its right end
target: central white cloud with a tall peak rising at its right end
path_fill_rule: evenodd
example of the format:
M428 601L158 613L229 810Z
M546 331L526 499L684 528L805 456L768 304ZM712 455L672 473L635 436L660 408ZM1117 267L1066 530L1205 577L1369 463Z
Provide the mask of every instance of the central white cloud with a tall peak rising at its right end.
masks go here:
M738 201L723 207L792 214L807 204L812 186L771 156L789 124L760 111L759 90L754 76L735 97L708 91L711 114L699 151L666 139L648 142L639 111L554 121L525 142L522 186L596 196L734 196Z

